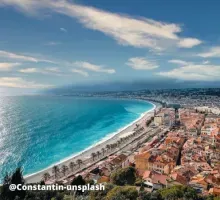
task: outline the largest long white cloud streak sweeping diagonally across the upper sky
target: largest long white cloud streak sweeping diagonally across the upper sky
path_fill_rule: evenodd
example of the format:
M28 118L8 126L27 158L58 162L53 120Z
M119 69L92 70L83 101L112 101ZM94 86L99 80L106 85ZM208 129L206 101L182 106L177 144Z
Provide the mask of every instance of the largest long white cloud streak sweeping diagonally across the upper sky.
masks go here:
M132 18L93 7L77 5L66 0L1 0L0 5L13 6L32 15L36 15L40 10L50 9L76 18L85 27L100 31L122 45L163 50L171 44L190 48L201 43L195 38L181 39L177 35L182 31L178 24L147 18Z

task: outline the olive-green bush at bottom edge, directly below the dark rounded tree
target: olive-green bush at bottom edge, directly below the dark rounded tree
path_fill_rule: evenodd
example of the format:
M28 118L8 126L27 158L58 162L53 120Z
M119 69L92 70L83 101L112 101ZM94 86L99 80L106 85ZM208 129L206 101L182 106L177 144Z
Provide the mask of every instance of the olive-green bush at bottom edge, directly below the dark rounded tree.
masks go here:
M138 191L134 186L116 186L110 190L106 200L136 200Z

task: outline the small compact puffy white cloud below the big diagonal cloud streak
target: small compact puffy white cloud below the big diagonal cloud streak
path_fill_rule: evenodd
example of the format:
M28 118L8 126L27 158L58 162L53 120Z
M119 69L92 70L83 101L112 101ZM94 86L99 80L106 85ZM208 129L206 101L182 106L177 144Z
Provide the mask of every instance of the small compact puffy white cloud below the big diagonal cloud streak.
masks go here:
M159 67L155 61L150 61L143 57L130 58L126 65L136 70L152 70Z

